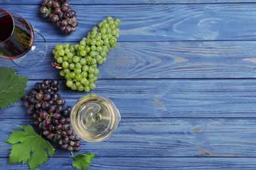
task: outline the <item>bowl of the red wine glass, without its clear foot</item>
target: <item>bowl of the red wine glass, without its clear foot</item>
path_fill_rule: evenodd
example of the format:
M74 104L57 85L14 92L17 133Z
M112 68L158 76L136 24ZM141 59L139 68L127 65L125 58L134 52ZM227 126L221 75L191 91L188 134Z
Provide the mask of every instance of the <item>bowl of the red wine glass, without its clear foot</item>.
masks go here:
M26 19L0 8L0 57L24 56L32 47L33 37L32 26Z

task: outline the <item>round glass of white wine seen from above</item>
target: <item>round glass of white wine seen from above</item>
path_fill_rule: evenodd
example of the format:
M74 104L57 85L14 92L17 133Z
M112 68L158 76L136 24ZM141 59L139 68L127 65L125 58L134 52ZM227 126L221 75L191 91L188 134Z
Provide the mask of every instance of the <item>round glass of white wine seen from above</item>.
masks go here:
M103 95L81 97L72 107L71 125L78 137L89 142L100 142L116 131L120 122L116 105Z

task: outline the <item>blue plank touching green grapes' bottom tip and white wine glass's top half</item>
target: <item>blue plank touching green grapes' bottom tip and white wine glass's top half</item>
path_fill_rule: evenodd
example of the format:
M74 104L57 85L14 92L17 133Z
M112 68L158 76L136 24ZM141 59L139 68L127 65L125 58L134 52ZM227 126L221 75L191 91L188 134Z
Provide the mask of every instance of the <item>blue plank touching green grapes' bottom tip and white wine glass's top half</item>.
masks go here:
M41 81L29 81L26 93ZM65 82L59 86L66 106L88 94L66 88ZM123 118L255 118L255 89L255 80L240 79L97 80L90 93L110 97ZM0 118L20 118L27 110L17 101L1 111Z

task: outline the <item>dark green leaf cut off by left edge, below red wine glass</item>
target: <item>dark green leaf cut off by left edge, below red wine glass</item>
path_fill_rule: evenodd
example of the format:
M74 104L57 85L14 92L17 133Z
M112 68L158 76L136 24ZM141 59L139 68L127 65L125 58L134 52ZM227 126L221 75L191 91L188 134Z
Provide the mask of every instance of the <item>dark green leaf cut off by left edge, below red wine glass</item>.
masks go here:
M16 75L16 69L0 67L0 108L8 107L20 99L27 86L28 77Z

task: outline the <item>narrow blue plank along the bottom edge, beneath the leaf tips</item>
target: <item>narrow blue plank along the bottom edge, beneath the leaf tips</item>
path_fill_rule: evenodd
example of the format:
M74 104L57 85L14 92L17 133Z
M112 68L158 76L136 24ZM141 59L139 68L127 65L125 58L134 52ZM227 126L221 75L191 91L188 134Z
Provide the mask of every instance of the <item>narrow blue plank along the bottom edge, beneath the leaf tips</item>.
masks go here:
M96 156L90 164L91 169L254 169L255 158L140 158L137 157L100 157ZM7 158L0 158L1 167L6 170L28 169L28 163L6 165ZM75 169L72 168L72 158L49 158L37 169Z

